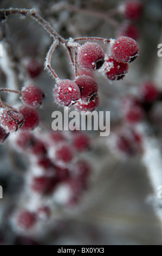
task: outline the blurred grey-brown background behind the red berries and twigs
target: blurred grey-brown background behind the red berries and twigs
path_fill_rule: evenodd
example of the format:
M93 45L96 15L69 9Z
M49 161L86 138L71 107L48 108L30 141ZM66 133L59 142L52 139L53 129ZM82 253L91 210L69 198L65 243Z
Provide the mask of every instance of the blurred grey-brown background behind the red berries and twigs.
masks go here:
M27 179L25 177L30 171L30 159L27 159L26 154L17 151L12 136L0 145L0 185L3 187L3 199L0 199L2 245L161 245L161 222L155 212L156 206L159 207L161 203L154 203L154 188L148 175L147 164L142 161L146 152L144 145L140 145L140 149L130 155L127 154L127 150L116 149L114 144L120 129L127 136L129 131L136 129L137 126L129 126L122 120L120 97L138 95L138 88L143 81L152 81L159 92L161 90L162 57L157 56L157 46L162 44L162 2L139 1L142 10L138 19L128 19L124 15L123 8L126 2L0 1L0 8L34 8L66 39L78 36L115 39L121 33L130 36L124 28L131 24L134 30L130 33L133 33L132 36L135 36L134 39L140 48L139 57L129 64L128 75L123 80L108 81L100 72L92 74L99 85L98 111L111 111L111 135L100 137L99 132L86 132L92 144L90 149L81 153L81 157L88 161L91 172L88 187L76 205L67 207L60 203L59 200L62 200L63 196L62 192L57 190L50 198L40 199L51 207L49 219L38 223L37 229L29 232L17 228L13 221L14 212L24 208L24 205L30 205L33 209L34 206L31 207L31 204L33 205L38 198L31 191L28 191L30 195L27 196L27 191L24 190ZM52 96L55 82L47 71L43 70L43 63L52 40L31 17L10 15L7 22L1 26L5 26L5 29L1 28L0 39L7 41L11 62L14 63L13 69L20 70L20 66L28 59L35 59L40 64L41 71L36 77L30 76L30 79L46 94L43 107L38 109L41 122L36 130L38 136L43 136L45 130L51 130L51 113L58 109ZM101 45L109 54L109 47ZM73 79L73 70L63 47L56 48L51 63L59 77ZM10 88L14 89L11 84L13 80L9 81L12 74L7 74L8 72L4 70L7 68L1 64L1 87L7 87L10 83ZM15 72L17 87L21 89L24 83L22 74ZM6 95L2 97L11 105L15 106L15 103L18 103L12 95L8 96L9 98ZM154 108L153 119L148 118L147 125L150 127L151 135L160 143L160 100L154 103ZM67 136L69 139L69 135ZM153 161L152 156L150 159Z

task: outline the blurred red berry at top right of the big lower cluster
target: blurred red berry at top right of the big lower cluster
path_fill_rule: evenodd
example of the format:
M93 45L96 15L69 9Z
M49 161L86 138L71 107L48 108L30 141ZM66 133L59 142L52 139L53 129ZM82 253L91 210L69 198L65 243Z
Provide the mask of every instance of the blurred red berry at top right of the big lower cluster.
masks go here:
M84 151L90 146L90 139L83 133L76 133L73 137L73 145L77 151Z

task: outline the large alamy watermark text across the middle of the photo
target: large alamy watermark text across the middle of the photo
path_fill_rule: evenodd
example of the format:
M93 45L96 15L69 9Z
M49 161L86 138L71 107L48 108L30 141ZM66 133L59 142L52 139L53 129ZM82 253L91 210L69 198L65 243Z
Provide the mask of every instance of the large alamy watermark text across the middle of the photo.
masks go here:
M54 118L51 124L54 131L99 130L100 136L108 136L110 133L109 111L82 111L80 115L77 111L69 112L68 108L64 108L63 114L61 111L54 111L51 117Z

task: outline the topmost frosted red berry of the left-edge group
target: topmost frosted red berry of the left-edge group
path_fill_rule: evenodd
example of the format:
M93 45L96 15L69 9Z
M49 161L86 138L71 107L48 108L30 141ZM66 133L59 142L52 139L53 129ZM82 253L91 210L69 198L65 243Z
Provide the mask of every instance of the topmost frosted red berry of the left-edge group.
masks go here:
M43 98L44 93L37 86L29 85L22 88L21 100L24 104L38 107L42 104Z

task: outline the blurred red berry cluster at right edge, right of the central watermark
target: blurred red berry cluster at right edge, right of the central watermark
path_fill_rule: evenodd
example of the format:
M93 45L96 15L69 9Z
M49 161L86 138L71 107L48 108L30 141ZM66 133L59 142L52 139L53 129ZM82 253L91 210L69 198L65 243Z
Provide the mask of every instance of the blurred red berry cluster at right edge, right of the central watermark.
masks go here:
M138 96L128 95L121 99L122 117L129 124L135 124L142 120L147 111L158 100L160 92L153 82L142 82Z

